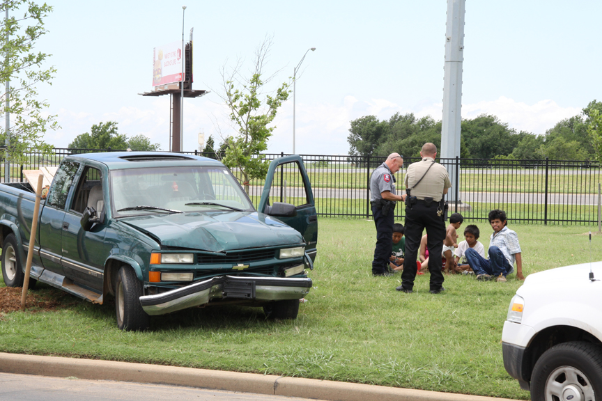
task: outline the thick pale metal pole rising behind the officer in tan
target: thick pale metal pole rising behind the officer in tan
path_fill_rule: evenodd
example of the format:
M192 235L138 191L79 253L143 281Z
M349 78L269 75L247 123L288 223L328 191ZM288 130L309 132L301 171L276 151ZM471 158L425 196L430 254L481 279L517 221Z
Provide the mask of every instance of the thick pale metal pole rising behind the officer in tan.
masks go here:
M465 0L447 0L447 26L445 29L445 79L443 84L443 120L441 125L441 149L443 159L460 156L460 132L462 123L462 63L464 61L464 13ZM456 165L448 164L451 191L448 199L457 202Z

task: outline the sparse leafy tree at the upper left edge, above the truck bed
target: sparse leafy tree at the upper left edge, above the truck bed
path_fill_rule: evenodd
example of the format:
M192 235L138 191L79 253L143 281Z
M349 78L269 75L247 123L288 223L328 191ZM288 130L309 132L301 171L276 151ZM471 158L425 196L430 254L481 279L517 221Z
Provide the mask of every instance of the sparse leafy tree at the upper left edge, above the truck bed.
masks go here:
M0 59L0 81L10 81L10 89L0 101L3 105L2 118L10 112L11 127L6 131L6 121L1 124L0 141L9 146L7 157L17 164L30 162L26 153L31 151L49 155L52 145L43 140L48 129L56 129L56 116L46 116L45 100L38 100L38 84L51 84L54 67L43 68L48 54L35 52L36 40L47 33L43 19L52 11L46 3L38 5L33 0L6 0L0 4L1 15L8 8L9 17L0 23L3 40ZM18 19L10 14L23 15ZM9 100L8 107L6 100Z

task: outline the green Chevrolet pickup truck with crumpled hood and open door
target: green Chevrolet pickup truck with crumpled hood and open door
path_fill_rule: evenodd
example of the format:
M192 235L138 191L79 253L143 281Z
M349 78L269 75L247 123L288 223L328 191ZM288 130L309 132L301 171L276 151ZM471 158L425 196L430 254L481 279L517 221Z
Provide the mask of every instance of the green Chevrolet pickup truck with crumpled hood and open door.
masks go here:
M296 183L291 203L282 202L284 176ZM23 285L35 198L29 184L0 184L10 287ZM169 152L70 155L41 202L30 286L40 281L95 304L114 296L119 329L219 304L294 319L311 289L318 220L296 155L270 164L260 212L222 163Z

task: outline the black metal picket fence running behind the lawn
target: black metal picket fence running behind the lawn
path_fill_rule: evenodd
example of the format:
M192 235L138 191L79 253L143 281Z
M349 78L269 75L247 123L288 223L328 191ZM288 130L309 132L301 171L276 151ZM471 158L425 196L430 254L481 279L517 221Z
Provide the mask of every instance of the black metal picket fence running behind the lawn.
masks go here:
M66 155L111 150L56 148L54 155L29 155L28 166L10 166L13 181L24 181L22 170L40 166L58 166ZM184 152L203 155L200 152ZM283 156L265 154L272 160ZM205 155L211 156L211 155ZM215 158L215 154L213 155ZM219 158L219 157L217 157ZM371 172L386 157L341 155L302 155L316 199L318 214L323 217L370 218L369 181ZM404 166L396 174L397 188L403 188L405 168L417 158L404 158ZM599 191L601 167L596 162L564 160L507 160L507 159L440 159L441 164L455 175L459 185L451 188L447 199L450 212L459 212L468 221L484 221L492 209L507 212L513 222L583 224L599 221ZM4 168L2 164L2 178ZM242 182L240 171L233 174ZM300 186L292 171L281 170L275 182L284 183L290 203L295 201L295 187ZM257 205L263 180L248 183L249 196ZM404 207L396 207L396 219L403 219Z

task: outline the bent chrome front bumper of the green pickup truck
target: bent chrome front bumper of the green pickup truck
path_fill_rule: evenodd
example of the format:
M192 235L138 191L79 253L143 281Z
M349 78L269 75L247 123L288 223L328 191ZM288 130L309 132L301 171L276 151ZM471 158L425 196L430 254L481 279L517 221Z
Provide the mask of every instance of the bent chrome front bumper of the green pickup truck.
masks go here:
M161 294L143 295L140 304L148 315L164 315L212 299L249 301L301 299L311 289L311 278L217 276Z

